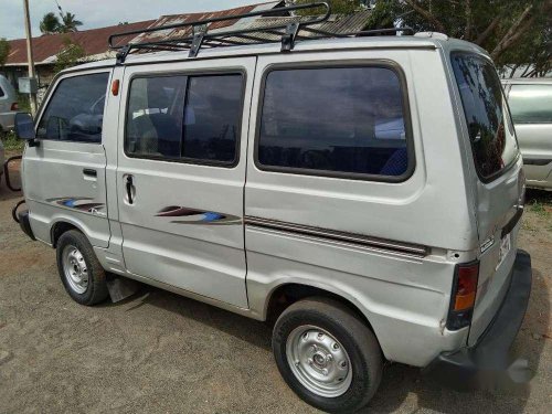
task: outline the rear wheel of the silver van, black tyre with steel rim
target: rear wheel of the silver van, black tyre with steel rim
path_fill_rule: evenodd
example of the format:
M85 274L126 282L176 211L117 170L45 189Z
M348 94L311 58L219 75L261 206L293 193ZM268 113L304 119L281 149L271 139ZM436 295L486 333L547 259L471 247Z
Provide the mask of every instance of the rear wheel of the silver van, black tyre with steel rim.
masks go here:
M273 352L291 390L326 412L355 412L380 385L383 361L374 333L337 300L308 298L289 306L274 327ZM322 378L323 385L309 382L312 376ZM331 381L328 389L323 381Z

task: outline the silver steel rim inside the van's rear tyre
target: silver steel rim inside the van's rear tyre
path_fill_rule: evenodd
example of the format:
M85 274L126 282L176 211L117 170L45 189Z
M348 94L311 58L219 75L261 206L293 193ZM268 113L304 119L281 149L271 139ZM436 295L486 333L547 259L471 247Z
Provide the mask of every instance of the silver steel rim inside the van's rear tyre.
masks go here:
M323 397L343 395L352 382L347 350L327 330L304 325L286 341L286 357L295 378L310 392Z

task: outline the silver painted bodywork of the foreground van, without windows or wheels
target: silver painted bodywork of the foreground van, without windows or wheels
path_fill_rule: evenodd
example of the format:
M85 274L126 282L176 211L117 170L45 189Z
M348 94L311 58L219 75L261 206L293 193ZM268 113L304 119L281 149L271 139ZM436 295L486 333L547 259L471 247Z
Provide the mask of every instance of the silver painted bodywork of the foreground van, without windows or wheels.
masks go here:
M517 148L503 173L490 182L478 178L450 68L453 51L488 59L470 43L422 34L299 42L293 53L266 44L205 50L197 59L178 52L129 55L124 65L104 61L66 71L52 83L39 123L63 79L107 73L108 85L120 81L120 92L106 91L100 145L41 140L25 149L32 231L55 245L60 229L74 226L108 272L258 320L267 318L283 286L338 295L365 317L388 360L425 367L442 352L475 344L497 314L519 222L499 263L501 229L516 215L522 193ZM258 168L264 74L278 65L348 62L385 62L402 74L415 158L410 177L384 182ZM221 71L245 79L235 166L126 155L132 78ZM203 211L204 217L219 212L227 221L176 223L159 213L163 206ZM446 320L455 267L474 259L480 261L480 274L473 322L452 331Z

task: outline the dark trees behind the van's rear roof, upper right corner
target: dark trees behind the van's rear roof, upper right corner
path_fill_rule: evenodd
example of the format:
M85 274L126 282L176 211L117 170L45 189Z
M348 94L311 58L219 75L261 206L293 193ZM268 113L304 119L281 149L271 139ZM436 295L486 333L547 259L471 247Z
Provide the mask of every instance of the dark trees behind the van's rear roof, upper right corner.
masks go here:
M551 70L552 0L379 0L368 29L438 31L486 49L497 66Z

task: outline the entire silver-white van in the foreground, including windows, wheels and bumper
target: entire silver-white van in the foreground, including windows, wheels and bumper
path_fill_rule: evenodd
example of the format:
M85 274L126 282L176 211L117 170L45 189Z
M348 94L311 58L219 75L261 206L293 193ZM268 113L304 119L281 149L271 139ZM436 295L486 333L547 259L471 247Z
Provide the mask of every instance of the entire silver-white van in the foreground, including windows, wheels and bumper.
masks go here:
M531 263L487 53L276 28L282 45L200 30L61 73L34 128L18 115L22 229L79 304L123 277L275 322L282 375L325 411L364 406L384 361L508 367Z

